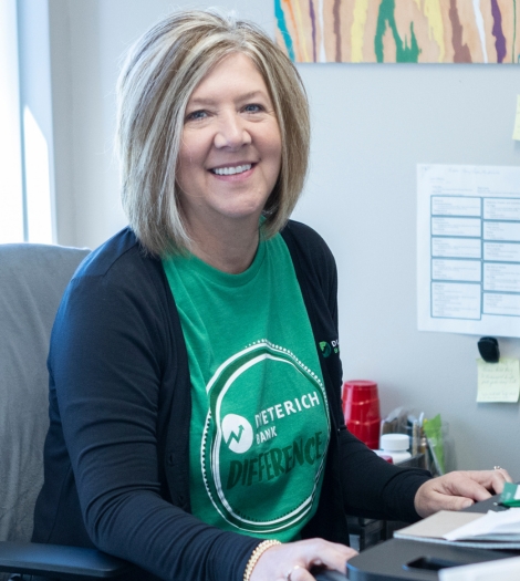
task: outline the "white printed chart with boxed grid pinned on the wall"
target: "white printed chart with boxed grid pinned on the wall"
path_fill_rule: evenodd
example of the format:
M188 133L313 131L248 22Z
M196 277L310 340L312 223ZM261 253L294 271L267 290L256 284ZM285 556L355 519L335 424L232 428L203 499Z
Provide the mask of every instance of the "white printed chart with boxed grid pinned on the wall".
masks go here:
M520 167L417 166L419 331L520 336Z

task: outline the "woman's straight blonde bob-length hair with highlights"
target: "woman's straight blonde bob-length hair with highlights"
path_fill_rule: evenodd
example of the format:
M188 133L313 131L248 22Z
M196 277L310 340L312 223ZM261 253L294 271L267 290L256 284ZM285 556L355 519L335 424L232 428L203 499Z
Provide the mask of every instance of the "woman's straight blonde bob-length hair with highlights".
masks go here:
M135 43L117 83L123 207L154 255L189 248L175 176L186 106L208 71L235 52L248 55L262 75L282 138L280 175L263 209L266 238L285 225L303 188L309 105L292 62L250 22L212 11L176 12Z

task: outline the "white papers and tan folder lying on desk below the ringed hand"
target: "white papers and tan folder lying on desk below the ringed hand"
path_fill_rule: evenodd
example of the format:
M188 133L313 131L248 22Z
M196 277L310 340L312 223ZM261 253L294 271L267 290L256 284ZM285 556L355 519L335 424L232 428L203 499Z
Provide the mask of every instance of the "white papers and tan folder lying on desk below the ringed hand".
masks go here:
M520 549L520 508L487 515L441 510L395 531L394 537L486 549Z

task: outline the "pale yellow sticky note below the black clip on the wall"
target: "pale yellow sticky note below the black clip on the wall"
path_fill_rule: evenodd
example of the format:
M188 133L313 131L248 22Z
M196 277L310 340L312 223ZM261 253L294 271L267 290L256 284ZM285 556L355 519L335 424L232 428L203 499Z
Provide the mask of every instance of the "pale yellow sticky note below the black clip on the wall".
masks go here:
M520 395L520 361L501 357L498 363L477 360L477 402L516 403Z

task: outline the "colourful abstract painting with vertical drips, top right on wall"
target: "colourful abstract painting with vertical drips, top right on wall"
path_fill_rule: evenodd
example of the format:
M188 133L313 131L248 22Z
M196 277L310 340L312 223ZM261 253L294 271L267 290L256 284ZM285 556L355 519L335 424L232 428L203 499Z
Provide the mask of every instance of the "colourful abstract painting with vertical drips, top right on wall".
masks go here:
M277 42L295 62L518 64L518 10L520 0L274 0Z

